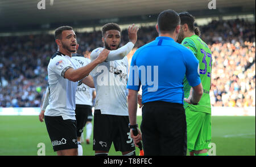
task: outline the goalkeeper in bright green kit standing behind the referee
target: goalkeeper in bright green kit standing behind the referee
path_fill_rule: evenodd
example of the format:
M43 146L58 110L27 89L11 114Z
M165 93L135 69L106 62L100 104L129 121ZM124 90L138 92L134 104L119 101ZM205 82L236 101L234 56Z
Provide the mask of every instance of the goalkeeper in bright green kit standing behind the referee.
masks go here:
M198 104L191 99L192 89L186 78L184 85L184 108L187 121L187 139L190 155L207 156L212 139L210 85L212 72L212 53L201 40L199 28L194 27L195 19L188 12L180 16L180 33L177 42L192 50L199 60L199 73L203 85L203 96Z

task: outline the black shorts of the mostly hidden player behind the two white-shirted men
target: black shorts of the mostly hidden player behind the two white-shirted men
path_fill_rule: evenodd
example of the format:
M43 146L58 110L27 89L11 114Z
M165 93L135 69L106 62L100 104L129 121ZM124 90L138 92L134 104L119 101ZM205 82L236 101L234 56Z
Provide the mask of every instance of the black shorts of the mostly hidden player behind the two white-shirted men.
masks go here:
M82 132L84 131L89 111L92 112L92 106L76 104L76 134L78 137L80 137Z

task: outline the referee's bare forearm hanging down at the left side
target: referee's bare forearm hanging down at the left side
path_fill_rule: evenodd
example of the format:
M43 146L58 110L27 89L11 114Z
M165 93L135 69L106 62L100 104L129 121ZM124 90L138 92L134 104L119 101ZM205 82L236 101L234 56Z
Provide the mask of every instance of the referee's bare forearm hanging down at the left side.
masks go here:
M135 125L137 123L137 120L136 120L136 118L137 118L137 96L138 96L138 91L129 89L127 103L128 103L130 125Z

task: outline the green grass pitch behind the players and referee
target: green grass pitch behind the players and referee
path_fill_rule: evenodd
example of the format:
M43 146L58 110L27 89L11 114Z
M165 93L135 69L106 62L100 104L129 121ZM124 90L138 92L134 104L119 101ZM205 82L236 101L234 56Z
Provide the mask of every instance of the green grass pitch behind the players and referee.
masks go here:
M141 123L141 117L137 121ZM91 144L82 143L84 155L94 155L92 137ZM255 156L255 117L212 117L212 142L217 156ZM56 155L38 116L0 116L0 155L37 155L38 143L46 145L46 155ZM136 151L139 155L138 148ZM115 152L112 144L109 155L121 152Z

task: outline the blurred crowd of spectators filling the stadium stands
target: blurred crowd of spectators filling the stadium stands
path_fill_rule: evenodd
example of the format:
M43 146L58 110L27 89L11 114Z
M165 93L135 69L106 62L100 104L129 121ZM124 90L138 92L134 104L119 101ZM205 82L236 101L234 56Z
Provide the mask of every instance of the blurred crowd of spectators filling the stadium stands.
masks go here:
M212 105L255 106L255 24L242 19L213 21L200 30L213 55ZM80 54L89 55L102 46L100 31L76 35ZM156 36L155 27L141 27L135 48ZM54 36L9 36L0 40L0 106L40 106L47 86L47 65L57 50ZM127 31L122 31L121 40L121 45L126 44Z

